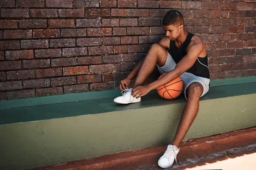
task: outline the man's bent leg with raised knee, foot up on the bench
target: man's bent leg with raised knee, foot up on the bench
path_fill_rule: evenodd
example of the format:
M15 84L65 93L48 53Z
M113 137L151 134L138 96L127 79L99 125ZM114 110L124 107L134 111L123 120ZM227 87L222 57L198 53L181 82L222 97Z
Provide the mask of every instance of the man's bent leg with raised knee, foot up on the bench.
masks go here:
M143 85L149 75L154 71L156 64L163 66L166 62L167 51L160 44L152 44L148 50L148 53L140 67L140 70L135 79L133 88Z

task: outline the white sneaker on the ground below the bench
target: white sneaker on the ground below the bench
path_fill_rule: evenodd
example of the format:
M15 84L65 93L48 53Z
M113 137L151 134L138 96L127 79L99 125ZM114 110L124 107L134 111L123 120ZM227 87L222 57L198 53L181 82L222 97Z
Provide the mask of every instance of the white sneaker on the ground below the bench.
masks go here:
M169 144L167 150L158 160L158 165L162 168L169 168L172 166L174 159L177 163L177 154L179 153L180 148L177 148L175 145Z

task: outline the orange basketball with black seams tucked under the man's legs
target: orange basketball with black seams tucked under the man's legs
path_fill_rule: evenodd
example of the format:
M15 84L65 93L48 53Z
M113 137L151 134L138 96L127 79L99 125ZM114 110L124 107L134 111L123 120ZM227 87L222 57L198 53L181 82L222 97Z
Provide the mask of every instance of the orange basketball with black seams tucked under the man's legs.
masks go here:
M158 79L160 79L165 74L162 74ZM180 77L177 77L172 82L157 88L157 93L164 99L175 99L181 94L182 89L183 82Z

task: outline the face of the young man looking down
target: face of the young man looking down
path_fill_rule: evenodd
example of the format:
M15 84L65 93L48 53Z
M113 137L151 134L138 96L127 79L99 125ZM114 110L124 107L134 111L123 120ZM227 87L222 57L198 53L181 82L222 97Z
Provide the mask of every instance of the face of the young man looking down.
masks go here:
M181 33L181 27L183 25L174 24L171 26L163 26L164 30L166 31L166 37L168 37L169 40L176 40L178 37L180 37Z

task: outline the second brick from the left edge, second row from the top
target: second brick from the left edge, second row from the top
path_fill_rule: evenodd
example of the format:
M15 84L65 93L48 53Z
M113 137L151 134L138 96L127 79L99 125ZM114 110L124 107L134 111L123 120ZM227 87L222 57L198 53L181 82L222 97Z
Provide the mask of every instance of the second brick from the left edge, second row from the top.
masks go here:
M58 17L58 9L30 9L30 17L34 17L34 18Z

